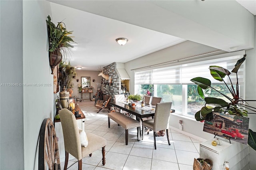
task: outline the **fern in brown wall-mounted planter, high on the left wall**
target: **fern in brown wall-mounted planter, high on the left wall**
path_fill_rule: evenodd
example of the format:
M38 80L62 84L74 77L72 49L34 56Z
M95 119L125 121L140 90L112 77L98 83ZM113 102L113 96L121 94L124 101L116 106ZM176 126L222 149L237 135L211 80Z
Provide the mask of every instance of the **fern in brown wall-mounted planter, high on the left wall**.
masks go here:
M46 20L47 31L48 31L48 41L49 41L49 61L52 74L54 67L62 61L62 55L64 56L64 61L66 53L70 48L74 47L70 42L74 42L72 37L72 31L67 31L66 26L63 22L58 22L57 26L52 23L50 16Z

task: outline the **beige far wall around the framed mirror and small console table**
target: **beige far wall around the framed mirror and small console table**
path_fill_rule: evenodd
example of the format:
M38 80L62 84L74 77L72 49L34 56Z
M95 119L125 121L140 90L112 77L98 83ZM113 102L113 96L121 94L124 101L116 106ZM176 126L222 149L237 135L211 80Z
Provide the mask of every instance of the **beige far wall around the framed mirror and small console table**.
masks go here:
M76 73L77 73L76 79L78 79L78 82L76 81L76 79L73 80L74 87L81 83L81 77L90 77L90 79L91 79L90 85L92 87L94 87L92 89L93 93L91 93L91 97L93 97L96 94L96 91L97 91L97 84L96 83L101 83L101 76L98 76L100 71L76 70ZM95 79L94 82L92 82L93 79ZM75 87L73 89L72 96L77 96L81 99L81 93L78 93L78 88L77 87ZM89 99L89 93L83 93L83 99Z

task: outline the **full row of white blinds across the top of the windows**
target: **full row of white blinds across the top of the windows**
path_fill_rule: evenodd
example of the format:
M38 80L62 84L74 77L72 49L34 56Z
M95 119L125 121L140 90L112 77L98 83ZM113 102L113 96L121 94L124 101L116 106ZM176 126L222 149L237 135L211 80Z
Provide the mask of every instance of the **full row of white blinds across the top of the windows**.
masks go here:
M242 57L243 55L234 55L146 71L137 71L134 73L134 82L135 84L192 84L190 79L204 77L210 79L212 83L222 84L224 83L223 81L217 81L212 77L209 66L220 66L231 72L237 60ZM232 83L236 82L236 74L231 72L230 79ZM228 76L224 78L224 81L230 83ZM244 63L238 70L238 81L239 83L244 83Z

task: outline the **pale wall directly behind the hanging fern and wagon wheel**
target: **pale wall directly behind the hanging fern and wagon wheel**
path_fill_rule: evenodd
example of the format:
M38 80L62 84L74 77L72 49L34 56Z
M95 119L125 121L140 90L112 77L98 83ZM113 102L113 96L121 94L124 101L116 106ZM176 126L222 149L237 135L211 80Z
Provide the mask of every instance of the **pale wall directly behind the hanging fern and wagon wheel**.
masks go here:
M53 120L54 117L53 75L49 65L46 26L48 15L51 15L49 2L23 1L23 83L43 84L40 87L23 87L24 169L26 170L34 168L34 161L35 169L38 169L36 146L40 127L45 118ZM34 160L35 155L36 160Z

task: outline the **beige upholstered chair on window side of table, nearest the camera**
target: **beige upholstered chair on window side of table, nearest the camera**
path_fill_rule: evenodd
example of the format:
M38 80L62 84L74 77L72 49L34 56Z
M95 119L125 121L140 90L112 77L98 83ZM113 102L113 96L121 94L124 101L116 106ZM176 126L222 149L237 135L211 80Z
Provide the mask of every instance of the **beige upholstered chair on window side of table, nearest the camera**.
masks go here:
M170 118L170 111L172 107L172 102L165 102L165 103L157 103L156 104L156 111L154 119L148 119L142 121L142 139L144 138L144 127L150 128L154 131L154 147L156 149L156 131L166 129L166 136L169 141L169 118Z

